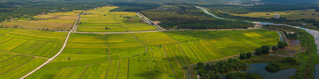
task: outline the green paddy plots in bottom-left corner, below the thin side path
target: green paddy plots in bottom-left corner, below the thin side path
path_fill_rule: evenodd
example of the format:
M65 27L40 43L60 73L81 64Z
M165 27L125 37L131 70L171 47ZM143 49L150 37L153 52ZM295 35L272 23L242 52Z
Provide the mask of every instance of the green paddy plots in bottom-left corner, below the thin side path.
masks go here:
M8 79L19 78L45 61L46 59L43 58L0 51L0 77Z

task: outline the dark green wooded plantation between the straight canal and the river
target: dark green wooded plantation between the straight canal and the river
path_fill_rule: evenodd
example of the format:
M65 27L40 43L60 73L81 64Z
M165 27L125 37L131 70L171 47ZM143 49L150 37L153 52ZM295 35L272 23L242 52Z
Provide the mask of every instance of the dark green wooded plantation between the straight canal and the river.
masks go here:
M183 11L141 11L141 13L153 21L160 21L158 25L165 29L247 29L253 23L213 19L198 8L188 5L175 4Z

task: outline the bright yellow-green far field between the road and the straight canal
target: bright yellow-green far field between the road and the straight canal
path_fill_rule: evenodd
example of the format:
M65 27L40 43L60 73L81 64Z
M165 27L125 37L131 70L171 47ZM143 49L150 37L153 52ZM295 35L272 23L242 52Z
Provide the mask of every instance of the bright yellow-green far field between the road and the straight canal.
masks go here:
M120 32L120 31L145 31L157 30L148 23L140 23L141 17L135 12L109 12L118 7L102 7L97 10L89 10L89 15L81 15L81 23L77 29L79 32ZM105 16L104 16L105 15ZM132 17L137 20L128 20L123 16ZM109 29L105 29L108 27Z

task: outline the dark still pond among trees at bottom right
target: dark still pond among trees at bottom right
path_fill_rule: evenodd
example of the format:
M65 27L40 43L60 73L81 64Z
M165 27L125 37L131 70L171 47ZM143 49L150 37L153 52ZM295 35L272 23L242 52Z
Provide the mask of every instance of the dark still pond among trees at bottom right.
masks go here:
M268 72L265 70L265 66L269 63L258 63L258 64L249 64L248 66L250 67L249 69L245 71L240 71L240 72L247 72L247 73L257 73L261 74L263 76L263 79L289 79L289 76L292 76L295 74L297 69L285 69L285 70L280 70L275 73ZM226 75L221 75L219 74L221 79L226 79Z

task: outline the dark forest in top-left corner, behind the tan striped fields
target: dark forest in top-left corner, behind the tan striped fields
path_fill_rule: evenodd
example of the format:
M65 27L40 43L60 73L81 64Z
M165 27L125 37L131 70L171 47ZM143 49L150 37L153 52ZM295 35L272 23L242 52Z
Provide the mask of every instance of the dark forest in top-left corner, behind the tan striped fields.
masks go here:
M10 0L0 3L0 21L6 19L27 16L36 16L42 12L67 12L73 10L88 10L90 8L110 5L104 0L48 0L48 1L27 1L27 0ZM85 6L86 5L86 6Z

